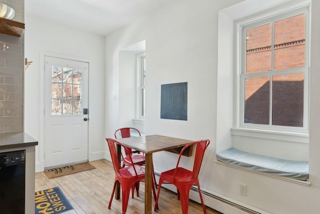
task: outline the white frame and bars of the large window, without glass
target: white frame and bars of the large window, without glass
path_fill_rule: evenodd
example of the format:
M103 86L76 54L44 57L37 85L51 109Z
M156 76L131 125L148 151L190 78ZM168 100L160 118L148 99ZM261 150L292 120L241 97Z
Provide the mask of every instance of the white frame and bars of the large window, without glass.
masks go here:
M305 62L304 67L296 67L283 70L267 70L263 72L245 73L246 72L246 30L254 27L258 27L264 24L272 23L272 37L271 37L271 68L273 68L273 22L296 16L305 13ZM247 19L242 22L236 23L237 28L237 63L236 63L236 127L238 128L249 128L249 129L264 129L264 130L276 130L285 132L301 132L306 133L308 131L308 93L309 93L309 9L308 6L301 6L300 8L286 8L284 10L278 10L266 15L261 15L254 19ZM272 125L272 87L270 84L270 106L269 106L269 124L252 124L244 123L244 107L245 107L245 79L253 77L269 76L272 81L272 76L292 74L292 73L303 73L303 127L295 126L282 126Z

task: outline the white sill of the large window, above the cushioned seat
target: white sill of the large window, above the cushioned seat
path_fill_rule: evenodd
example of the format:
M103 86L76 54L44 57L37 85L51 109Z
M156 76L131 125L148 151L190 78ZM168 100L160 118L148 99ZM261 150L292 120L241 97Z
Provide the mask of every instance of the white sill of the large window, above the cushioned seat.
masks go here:
M248 128L231 128L231 135L248 136L265 139L276 139L290 142L309 143L308 133L294 133L274 130L259 130Z

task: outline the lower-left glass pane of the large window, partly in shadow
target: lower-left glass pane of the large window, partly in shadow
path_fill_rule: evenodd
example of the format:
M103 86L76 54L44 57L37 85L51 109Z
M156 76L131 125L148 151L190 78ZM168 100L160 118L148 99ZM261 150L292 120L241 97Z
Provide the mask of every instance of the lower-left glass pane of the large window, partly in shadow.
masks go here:
M269 124L270 79L245 79L244 123Z

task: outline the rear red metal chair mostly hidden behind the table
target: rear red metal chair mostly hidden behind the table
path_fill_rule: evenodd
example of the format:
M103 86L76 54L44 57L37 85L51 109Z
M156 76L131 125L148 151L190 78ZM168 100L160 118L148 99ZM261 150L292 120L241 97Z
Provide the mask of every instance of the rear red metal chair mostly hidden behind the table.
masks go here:
M121 138L131 137L131 133L132 132L135 132L135 134L137 136L141 136L140 131L138 129L132 128L132 127L124 127L124 128L119 128L119 129L115 130L114 131L114 137L115 138L118 138L118 137L121 137ZM124 167L124 165L132 165L132 161L133 161L133 164L145 165L144 154L134 154L134 155L132 155L132 149L131 148L128 148L126 151L124 151L124 153L125 153L125 156L121 153L121 157L122 157L122 160L123 160L122 167ZM153 178L154 187L157 188L155 175L154 175L154 171L153 171L153 165L152 165L152 178ZM139 196L139 182L137 182L134 187L136 189L136 195ZM132 198L133 198L134 187L132 187Z

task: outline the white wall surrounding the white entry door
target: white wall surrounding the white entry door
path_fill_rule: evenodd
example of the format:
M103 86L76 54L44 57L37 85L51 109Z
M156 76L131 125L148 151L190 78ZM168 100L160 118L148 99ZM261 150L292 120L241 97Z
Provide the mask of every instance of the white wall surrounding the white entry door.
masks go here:
M42 52L88 59L89 65L89 160L103 158L104 155L104 36L84 30L70 29L68 26L49 20L25 16L25 57L32 61L25 71L25 123L24 130L39 140L36 146L36 171L43 170L44 142L40 133L43 117L43 97L41 97L40 76L43 68ZM43 76L43 75L42 75ZM43 87L43 86L42 86ZM91 108L90 108L91 107Z

